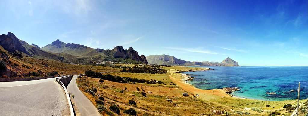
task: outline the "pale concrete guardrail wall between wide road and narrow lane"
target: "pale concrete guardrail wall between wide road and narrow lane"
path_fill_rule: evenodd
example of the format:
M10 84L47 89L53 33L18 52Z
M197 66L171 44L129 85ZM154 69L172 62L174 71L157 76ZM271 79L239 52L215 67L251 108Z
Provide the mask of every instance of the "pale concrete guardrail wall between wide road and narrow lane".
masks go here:
M68 83L71 81L73 76L65 76L65 77L60 77L60 78L57 78L57 82L63 87L64 91L65 91L65 94L66 94L66 97L67 97L67 101L69 102L69 106L70 106L70 110L71 110L71 116L75 116L74 114L74 110L73 110L73 105L72 105L72 102L71 102L71 97L70 95L68 94L68 91L66 89L66 86L68 85ZM70 79L65 79L65 78L70 78ZM63 82L66 82L67 85L65 86L60 80L62 80ZM69 81L68 81L69 80Z

